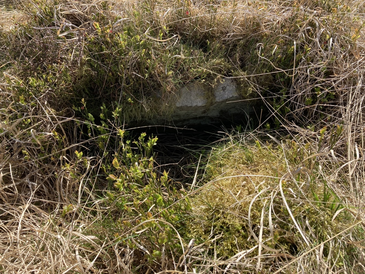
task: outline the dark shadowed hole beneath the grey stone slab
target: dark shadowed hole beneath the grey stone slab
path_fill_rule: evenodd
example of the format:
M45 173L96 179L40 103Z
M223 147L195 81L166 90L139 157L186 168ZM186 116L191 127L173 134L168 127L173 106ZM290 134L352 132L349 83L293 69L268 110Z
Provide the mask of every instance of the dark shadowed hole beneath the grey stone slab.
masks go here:
M237 128L250 130L258 123L250 121L250 127L246 125L247 121L242 121L240 124L226 121L214 125L191 125L189 128L145 126L133 129L131 135L132 139L138 138L141 133L146 133L146 138L151 135L158 137L157 144L154 146L158 171L162 173L165 170L173 181L190 186L196 172L199 175L198 179L202 177L203 167L212 147L223 137L227 137L227 132Z

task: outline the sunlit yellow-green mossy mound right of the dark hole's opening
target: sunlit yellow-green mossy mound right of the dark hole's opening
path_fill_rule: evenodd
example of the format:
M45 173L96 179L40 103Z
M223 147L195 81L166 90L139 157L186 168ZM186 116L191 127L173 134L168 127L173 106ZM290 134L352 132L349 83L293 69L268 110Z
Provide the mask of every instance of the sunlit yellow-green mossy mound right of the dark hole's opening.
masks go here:
M213 148L206 167L210 182L191 199L187 225L201 252L227 264L234 258L232 267L242 260L273 271L328 240L306 260L319 268L352 266L361 252L349 240L361 241L364 227L327 185L312 149L243 136Z

